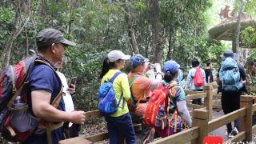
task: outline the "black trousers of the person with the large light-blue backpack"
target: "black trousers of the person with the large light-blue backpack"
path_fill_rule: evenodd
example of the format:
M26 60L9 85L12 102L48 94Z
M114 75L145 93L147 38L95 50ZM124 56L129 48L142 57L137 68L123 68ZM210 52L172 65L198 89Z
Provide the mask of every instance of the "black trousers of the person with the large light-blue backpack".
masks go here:
M224 114L229 114L240 108L240 96L242 92L238 91L223 91L222 90L222 110ZM240 127L240 120L234 121L234 127ZM231 122L226 124L227 132L230 133L232 130Z

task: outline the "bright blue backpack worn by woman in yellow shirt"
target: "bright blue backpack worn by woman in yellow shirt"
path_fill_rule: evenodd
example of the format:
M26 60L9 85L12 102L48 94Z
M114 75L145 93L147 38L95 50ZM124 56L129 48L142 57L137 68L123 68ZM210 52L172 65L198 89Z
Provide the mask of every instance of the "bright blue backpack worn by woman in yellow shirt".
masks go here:
M105 81L102 84L102 86L100 86L98 89L98 110L103 115L114 114L114 112L118 110L118 106L122 99L122 94L117 103L117 100L114 94L113 82L114 82L114 79L117 78L119 74L122 74L122 72L118 71L117 73L115 73L113 78L110 79L110 82ZM124 108L124 103L125 102L122 102L122 109Z

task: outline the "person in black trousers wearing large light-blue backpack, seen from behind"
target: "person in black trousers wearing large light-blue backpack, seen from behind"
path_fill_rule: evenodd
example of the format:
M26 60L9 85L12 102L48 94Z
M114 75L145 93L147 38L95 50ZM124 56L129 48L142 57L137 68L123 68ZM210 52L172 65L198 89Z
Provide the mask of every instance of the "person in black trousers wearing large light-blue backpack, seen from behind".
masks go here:
M222 92L222 110L224 114L229 114L235 110L240 109L240 96L243 92L246 92L246 71L244 70L243 66L236 62L238 57L237 54L232 52L232 50L226 50L224 54L221 55L221 58L222 64L218 68L216 82L219 85L218 92ZM228 69L224 68L226 65L229 66ZM233 66L230 69L231 65ZM235 84L230 86L228 83L226 83L226 81L222 80L222 78L225 78L225 80L229 80L231 78L230 80L232 82L236 82L238 85ZM228 90L227 87L236 88L234 90ZM233 138L234 135L238 134L239 127L239 119L234 121L234 128L232 128L231 122L227 123L226 136L228 138Z

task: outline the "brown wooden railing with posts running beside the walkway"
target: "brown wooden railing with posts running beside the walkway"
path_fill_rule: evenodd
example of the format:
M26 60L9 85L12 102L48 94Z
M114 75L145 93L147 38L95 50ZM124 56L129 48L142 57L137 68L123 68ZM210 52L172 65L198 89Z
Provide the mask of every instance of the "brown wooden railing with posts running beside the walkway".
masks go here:
M192 100L195 98L205 98L204 106L194 105L191 103L187 103L187 106L193 108L192 111L192 128L187 130L182 130L182 132L178 134L171 135L166 138L158 138L152 143L185 143L192 142L195 144L201 144L203 138L208 135L213 130L218 129L221 126L226 125L229 122L233 122L235 119L241 119L240 132L238 135L234 136L234 138L230 138L228 142L250 142L252 139L252 134L256 133L256 126L252 126L252 115L254 111L256 111L256 103L254 102L253 96L242 96L240 99L240 109L236 110L230 114L223 115L222 117L212 119L212 108L213 108L213 97L220 98L220 94L214 94L213 88L216 89L216 83L211 83L210 85L204 86L203 92L193 91L193 90L185 90L186 99ZM86 120L101 118L101 114L98 110L86 112ZM141 130L140 124L135 124L134 128L136 131ZM90 143L90 142L100 142L108 138L107 133L95 134L92 136L84 136L81 135L79 138L74 138L77 141L67 140L63 141L63 144L66 143L74 143L74 142L82 142L82 139L86 140L82 143Z

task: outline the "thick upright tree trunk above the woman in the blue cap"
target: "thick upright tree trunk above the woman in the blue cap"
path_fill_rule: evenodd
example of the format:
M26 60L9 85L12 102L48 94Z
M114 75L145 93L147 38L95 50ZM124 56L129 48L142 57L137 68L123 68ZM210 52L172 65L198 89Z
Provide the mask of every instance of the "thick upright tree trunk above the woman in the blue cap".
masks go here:
M162 39L160 26L160 6L158 0L150 0L150 10L152 15L152 26L154 27L154 59L153 62L162 62Z

